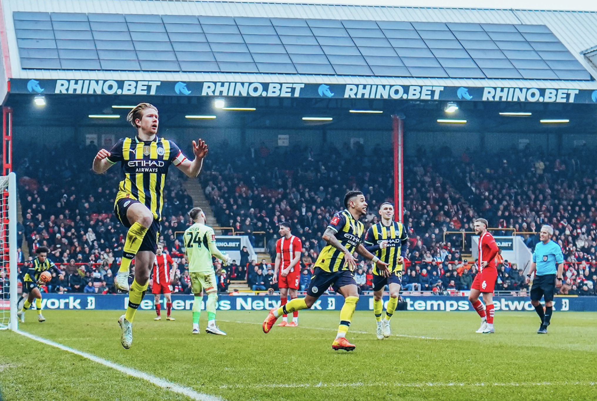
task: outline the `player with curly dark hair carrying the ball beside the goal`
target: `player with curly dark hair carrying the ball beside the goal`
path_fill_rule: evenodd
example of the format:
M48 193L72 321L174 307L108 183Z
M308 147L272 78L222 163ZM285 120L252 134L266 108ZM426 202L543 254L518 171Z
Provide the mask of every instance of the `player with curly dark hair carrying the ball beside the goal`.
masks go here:
M24 301L23 307L17 312L21 323L25 322L25 311L31 307L33 300L35 300L35 308L38 312L38 321L45 322L45 317L41 314L41 292L38 287L38 284L42 283L39 279L41 273L52 270L60 277L60 280L64 279L64 274L56 267L53 261L48 259L48 252L50 250L45 246L36 248L35 253L37 257L30 262L27 272L23 277L23 296L27 294L27 299Z

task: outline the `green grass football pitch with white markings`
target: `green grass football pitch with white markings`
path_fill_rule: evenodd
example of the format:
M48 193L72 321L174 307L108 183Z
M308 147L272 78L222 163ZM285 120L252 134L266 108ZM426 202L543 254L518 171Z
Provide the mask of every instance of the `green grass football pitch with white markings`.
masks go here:
M350 353L331 349L337 311L301 312L298 328L267 335L267 311L219 311L226 337L205 334L207 313L192 335L190 311L174 322L139 311L130 350L120 314L47 310L38 323L28 311L20 330L64 349L1 331L4 400L597 399L595 313L555 312L538 335L534 313L497 313L496 334L476 334L475 313L398 312L380 341L373 313L357 311Z

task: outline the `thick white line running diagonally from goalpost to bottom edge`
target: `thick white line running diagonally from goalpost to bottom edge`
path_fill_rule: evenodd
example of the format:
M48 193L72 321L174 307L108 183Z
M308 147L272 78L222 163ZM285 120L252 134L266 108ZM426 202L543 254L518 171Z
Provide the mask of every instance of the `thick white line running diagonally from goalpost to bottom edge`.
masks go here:
M20 331L20 330L18 330L16 332L17 332L17 334L23 335L24 337L28 337L32 340L39 341L39 343L43 343L43 344L47 344L48 346L60 348L63 351L67 351L67 352L82 356L82 357L89 359L93 362L99 363L100 365L104 365L104 366L107 366L108 368L116 369L117 371L127 374L129 376L149 381L149 383L155 384L158 387L164 388L165 390L173 391L174 393L183 394L183 396L187 396L192 400L223 401L223 399L221 397L211 396L210 394L198 393L197 391L193 390L190 387L184 387L183 385L172 383L171 381L150 375L148 373L139 371L137 369L127 368L127 366L122 366L122 365L119 365L118 363L110 362L109 360L100 358L99 356L96 356L94 354L90 354L90 353L87 353L84 351L75 350L75 348L70 348L70 347L64 346L63 344L60 344L60 343L54 343L54 341L47 340L47 338L38 337L36 335L30 334L30 333L27 333L24 331Z

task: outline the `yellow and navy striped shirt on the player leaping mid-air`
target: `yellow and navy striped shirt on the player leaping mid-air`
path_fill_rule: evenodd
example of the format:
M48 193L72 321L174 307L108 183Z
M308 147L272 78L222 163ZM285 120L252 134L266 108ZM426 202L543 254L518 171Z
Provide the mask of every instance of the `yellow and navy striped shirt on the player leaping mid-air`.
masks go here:
M142 141L139 136L122 138L110 150L108 160L121 162L124 180L118 185L116 201L123 198L139 200L161 220L164 206L164 184L171 164L181 164L186 158L173 141L159 138Z

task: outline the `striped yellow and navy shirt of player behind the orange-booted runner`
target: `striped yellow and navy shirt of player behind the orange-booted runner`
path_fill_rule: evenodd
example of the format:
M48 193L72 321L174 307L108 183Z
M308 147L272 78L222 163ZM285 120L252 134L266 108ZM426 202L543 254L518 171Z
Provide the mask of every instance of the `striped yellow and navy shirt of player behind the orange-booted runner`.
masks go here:
M381 249L379 244L387 241L387 248ZM408 234L404 224L392 221L390 226L377 223L369 227L365 235L365 248L387 263L390 273L402 274L402 264L398 264L398 257L405 257L408 249ZM373 266L373 274L380 276L377 265Z

